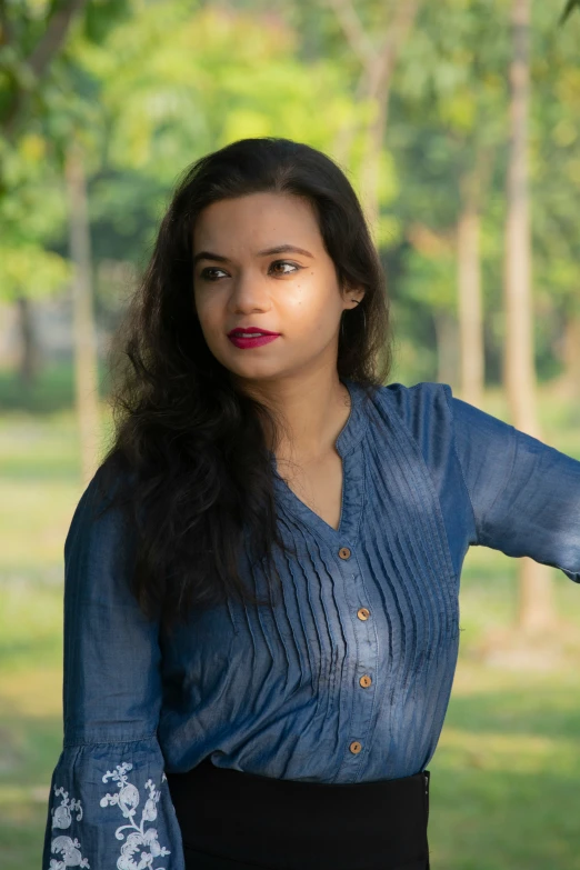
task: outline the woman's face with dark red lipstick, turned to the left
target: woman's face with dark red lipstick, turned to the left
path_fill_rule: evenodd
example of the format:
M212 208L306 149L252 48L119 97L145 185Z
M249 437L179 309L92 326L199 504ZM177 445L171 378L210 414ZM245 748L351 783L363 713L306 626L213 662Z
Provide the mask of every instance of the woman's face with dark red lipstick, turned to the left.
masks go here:
M264 381L326 366L336 370L340 316L363 293L342 297L307 200L268 192L209 206L196 222L193 263L203 336L234 376ZM228 337L252 327L277 338L237 346Z

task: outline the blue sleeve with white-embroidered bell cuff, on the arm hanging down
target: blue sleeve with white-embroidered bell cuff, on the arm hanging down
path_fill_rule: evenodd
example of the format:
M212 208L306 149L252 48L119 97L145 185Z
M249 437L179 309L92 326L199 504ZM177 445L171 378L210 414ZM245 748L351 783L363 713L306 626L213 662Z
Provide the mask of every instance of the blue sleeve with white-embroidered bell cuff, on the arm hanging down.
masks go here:
M42 868L184 870L157 740L158 623L128 587L131 536L100 471L64 542L63 743L52 772Z

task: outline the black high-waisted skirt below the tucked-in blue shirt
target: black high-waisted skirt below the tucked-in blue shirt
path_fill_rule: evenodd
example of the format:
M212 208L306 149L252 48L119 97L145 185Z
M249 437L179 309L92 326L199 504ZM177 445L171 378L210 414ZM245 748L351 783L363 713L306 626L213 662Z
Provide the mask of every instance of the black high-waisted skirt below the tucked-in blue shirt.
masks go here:
M187 870L429 870L429 779L329 784L168 773Z

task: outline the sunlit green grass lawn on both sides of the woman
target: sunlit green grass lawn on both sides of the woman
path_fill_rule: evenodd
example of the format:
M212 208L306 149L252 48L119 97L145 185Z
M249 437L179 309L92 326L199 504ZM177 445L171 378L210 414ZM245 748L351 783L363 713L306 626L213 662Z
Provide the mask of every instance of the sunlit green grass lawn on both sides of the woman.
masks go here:
M501 416L501 397L489 410ZM556 401L541 410L546 440L580 454L580 421ZM62 547L81 493L70 411L0 419L0 864L33 870L61 744ZM546 671L476 656L514 617L516 568L483 548L466 560L459 666L429 766L432 870L580 870L580 640ZM580 589L553 577L580 639Z

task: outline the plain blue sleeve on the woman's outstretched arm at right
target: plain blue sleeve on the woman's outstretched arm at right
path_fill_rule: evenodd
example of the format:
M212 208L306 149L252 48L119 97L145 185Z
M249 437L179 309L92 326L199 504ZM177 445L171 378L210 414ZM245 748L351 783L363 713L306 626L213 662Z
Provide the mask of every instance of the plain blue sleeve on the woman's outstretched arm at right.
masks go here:
M580 462L444 390L473 543L528 556L579 583Z

